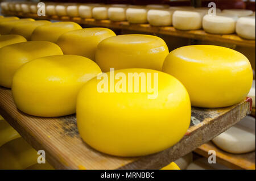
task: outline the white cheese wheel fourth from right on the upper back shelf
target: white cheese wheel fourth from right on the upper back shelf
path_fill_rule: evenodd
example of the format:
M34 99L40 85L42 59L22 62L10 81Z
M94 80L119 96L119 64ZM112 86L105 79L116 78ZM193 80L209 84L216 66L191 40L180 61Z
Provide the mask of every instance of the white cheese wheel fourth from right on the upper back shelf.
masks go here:
M152 26L171 26L173 12L169 9L149 10L147 12L147 21Z

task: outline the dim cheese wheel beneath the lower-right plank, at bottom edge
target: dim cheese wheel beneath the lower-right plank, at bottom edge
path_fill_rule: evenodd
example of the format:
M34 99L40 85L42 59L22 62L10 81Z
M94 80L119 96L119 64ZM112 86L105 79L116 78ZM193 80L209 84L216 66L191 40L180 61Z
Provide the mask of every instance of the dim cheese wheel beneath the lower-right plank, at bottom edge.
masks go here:
M230 170L219 163L209 163L208 158L199 158L188 165L187 170Z

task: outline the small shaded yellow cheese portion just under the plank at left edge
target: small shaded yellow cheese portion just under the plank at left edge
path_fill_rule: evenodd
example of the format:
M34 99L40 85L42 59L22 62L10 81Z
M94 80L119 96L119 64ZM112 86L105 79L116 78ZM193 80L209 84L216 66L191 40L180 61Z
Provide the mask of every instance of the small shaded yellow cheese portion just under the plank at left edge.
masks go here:
M0 148L2 145L18 137L20 137L19 133L5 120L1 120L0 117Z

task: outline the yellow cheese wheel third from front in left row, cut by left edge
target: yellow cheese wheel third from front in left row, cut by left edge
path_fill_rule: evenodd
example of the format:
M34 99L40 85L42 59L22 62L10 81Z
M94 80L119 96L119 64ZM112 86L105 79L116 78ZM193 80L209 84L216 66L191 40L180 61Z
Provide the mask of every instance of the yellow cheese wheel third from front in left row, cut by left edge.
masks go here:
M60 47L48 41L28 41L0 48L0 85L11 88L15 71L35 58L63 54Z

